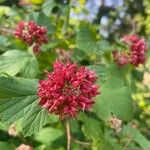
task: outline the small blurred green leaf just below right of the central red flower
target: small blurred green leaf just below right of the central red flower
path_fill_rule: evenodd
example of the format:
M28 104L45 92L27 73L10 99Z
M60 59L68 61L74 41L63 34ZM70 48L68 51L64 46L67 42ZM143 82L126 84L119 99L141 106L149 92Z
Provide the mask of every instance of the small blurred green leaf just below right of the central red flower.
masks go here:
M102 135L102 124L92 114L80 113L79 120L83 122L82 130L87 138L99 139Z

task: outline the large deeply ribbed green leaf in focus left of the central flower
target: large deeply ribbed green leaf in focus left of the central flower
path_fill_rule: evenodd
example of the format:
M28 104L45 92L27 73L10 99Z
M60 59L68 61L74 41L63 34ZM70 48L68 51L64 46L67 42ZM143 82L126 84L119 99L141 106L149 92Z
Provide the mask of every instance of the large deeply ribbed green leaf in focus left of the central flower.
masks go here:
M38 105L37 80L0 76L0 116L3 122L21 121L24 136L38 132L48 113Z

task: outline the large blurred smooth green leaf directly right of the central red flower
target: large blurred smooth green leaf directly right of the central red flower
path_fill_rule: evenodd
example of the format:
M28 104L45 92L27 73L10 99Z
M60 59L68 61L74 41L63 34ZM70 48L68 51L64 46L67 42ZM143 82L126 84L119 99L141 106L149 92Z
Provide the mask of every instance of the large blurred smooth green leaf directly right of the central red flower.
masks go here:
M130 88L124 85L122 73L116 67L106 68L105 73L105 78L98 81L101 94L96 97L94 112L103 120L113 113L124 121L130 121L133 116Z

